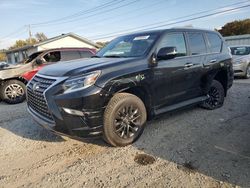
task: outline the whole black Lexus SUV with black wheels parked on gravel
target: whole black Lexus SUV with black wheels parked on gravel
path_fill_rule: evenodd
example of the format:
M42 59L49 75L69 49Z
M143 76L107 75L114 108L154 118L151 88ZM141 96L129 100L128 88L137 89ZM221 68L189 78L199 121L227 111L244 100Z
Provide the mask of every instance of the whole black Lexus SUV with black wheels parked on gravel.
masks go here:
M42 69L28 84L28 110L44 127L71 137L134 142L147 119L200 104L223 105L232 57L221 35L168 29L118 37L88 60Z

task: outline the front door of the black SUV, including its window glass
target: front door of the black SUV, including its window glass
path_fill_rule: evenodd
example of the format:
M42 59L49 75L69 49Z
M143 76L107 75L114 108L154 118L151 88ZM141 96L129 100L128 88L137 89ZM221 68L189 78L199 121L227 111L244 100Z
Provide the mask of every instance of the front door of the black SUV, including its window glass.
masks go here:
M160 60L154 68L153 88L156 108L176 104L199 95L195 91L195 80L201 64L189 56L184 33L166 34L157 47L158 51L163 47L176 47L177 56L170 60Z

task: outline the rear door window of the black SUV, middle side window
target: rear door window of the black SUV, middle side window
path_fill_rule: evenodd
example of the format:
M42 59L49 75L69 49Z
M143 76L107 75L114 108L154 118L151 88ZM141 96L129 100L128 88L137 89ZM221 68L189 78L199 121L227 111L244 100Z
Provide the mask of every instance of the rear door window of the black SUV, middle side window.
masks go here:
M187 36L192 55L207 53L207 47L202 33L188 33Z

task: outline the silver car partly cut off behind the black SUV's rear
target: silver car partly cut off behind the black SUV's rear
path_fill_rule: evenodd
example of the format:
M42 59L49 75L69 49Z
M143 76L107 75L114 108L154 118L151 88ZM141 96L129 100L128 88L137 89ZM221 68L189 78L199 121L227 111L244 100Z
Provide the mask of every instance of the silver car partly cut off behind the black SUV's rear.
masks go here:
M231 46L234 75L250 78L250 45Z

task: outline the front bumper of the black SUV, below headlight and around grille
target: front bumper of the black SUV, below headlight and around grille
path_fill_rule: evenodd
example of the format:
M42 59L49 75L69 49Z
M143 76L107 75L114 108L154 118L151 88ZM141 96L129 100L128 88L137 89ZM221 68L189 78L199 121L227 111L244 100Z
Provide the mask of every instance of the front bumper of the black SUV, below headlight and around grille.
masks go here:
M36 104L34 99L32 99L33 104L29 105L29 97L27 98L28 111L34 120L44 128L60 135L81 138L101 136L107 100L106 92L102 88L91 86L81 91L65 94L61 92L60 86L60 83L56 83L43 93L52 117L50 119L34 109L34 104ZM71 113L74 111L80 113Z

